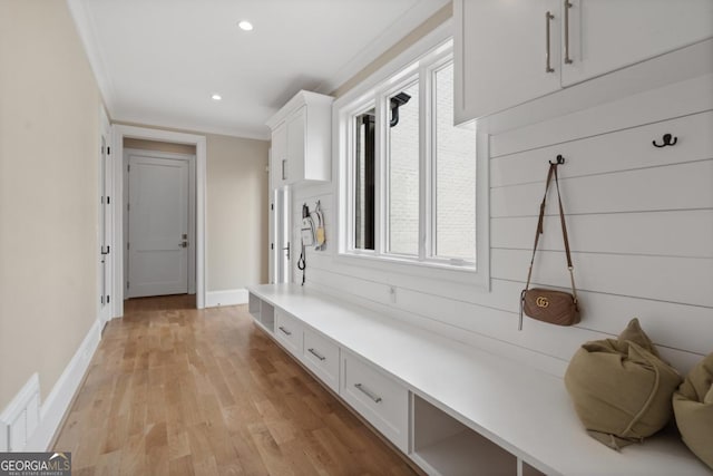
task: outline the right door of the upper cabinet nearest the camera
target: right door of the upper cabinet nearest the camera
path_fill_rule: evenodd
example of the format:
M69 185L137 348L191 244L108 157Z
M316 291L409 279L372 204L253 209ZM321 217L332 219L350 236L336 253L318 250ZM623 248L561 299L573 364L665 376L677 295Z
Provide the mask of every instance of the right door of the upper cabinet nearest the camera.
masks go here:
M713 0L569 2L564 86L713 37Z

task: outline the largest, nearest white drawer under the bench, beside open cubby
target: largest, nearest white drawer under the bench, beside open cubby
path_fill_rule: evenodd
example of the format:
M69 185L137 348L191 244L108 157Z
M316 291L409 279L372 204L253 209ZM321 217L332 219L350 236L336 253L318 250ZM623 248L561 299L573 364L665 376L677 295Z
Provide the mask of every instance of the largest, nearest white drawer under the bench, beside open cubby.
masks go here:
M409 391L375 367L342 350L342 398L408 453Z

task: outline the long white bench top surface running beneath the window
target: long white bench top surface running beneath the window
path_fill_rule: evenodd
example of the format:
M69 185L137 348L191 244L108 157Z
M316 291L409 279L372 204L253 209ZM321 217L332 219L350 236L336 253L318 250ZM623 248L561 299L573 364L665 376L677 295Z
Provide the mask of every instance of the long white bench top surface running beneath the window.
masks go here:
M266 284L248 290L549 475L713 474L675 434L655 435L621 453L595 441L560 378L312 289Z

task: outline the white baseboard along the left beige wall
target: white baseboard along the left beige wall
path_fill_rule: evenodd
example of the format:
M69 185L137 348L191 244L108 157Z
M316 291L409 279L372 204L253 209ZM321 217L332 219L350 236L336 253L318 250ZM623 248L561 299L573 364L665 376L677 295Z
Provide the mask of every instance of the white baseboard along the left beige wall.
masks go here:
M75 394L81 385L94 352L101 339L101 322L97 319L75 352L55 387L42 402L37 430L28 438L25 451L47 451L55 434L69 410Z

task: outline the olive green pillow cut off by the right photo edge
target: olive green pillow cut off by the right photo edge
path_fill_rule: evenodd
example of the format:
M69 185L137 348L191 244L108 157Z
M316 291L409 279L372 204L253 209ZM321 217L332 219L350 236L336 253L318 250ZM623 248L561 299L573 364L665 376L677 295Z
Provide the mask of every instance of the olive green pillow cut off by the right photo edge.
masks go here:
M673 396L686 446L713 469L713 353L695 366Z

